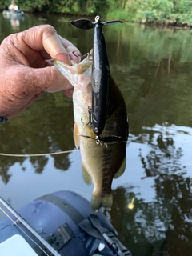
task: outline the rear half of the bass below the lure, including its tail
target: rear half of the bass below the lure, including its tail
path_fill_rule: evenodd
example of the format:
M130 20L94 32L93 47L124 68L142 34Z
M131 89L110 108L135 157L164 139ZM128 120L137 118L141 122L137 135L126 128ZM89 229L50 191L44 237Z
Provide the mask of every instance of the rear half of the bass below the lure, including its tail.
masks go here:
M122 174L126 166L125 146L118 144L98 146L90 138L81 138L80 151L82 177L86 183L94 183L92 209L98 210L101 206L110 209L113 203L111 194L113 178L119 171Z

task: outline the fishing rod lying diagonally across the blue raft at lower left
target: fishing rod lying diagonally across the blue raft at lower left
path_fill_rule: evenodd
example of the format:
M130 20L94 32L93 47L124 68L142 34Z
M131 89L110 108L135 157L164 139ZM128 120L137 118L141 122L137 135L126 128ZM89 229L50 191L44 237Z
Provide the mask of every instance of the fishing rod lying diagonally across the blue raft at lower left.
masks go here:
M31 234L34 235L35 238L38 239L39 242L42 243L43 246L46 247L47 250L50 251L51 254L53 254L54 256L61 256L61 254L58 254L58 252L56 250L54 250L54 248L52 246L50 246L50 244L48 242L46 242L45 239L43 239L37 231L35 231L33 229L32 226L30 226L24 218L22 218L2 197L0 197L0 203L2 203L3 206L5 206L6 210L8 210L10 212L10 214L13 214L14 217L17 219L16 222L14 222L14 220L12 220L11 218L11 221L14 223L14 225L17 225L18 226L18 223L17 222L21 222L23 226L26 227L27 230L30 231ZM0 208L1 209L1 208ZM18 226L19 227L19 226ZM20 228L20 227L19 227ZM21 229L21 228L20 228ZM22 229L21 229L22 230ZM23 231L23 230L22 230ZM24 232L24 231L23 231ZM25 232L24 232L25 233ZM33 241L33 240L32 240ZM34 241L33 241L34 242ZM41 248L41 247L40 247ZM41 248L42 250L42 248ZM42 250L43 252L45 252L44 250ZM48 254L47 254L48 255Z

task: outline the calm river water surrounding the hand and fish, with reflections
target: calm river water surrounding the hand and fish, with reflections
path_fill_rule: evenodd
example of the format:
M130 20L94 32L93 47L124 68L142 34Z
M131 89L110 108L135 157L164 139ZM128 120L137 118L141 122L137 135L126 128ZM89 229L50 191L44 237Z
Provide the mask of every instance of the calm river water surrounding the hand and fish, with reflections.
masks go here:
M27 14L24 21L10 22L1 14L0 41L48 23L85 54L93 31L72 27L70 19ZM191 31L126 23L103 30L110 72L124 95L130 124L126 171L113 182L114 205L106 215L134 256L191 255ZM73 126L71 99L46 94L0 126L0 152L74 150ZM0 195L16 210L58 190L90 200L93 186L82 181L80 166L75 150L44 157L0 156Z

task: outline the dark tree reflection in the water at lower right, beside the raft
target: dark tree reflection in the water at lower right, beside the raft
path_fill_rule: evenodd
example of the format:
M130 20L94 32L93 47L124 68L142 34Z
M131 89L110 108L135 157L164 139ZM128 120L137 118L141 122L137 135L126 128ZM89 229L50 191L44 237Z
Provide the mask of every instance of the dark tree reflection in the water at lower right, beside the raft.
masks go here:
M155 197L145 202L142 194L134 194L133 186L118 187L111 222L133 255L190 255L192 179L186 177L180 162L182 148L175 146L170 134L150 133L148 138L148 153L140 149L138 158L146 174L142 179L154 177ZM146 142L145 136L138 141ZM134 208L130 210L127 206L132 198Z

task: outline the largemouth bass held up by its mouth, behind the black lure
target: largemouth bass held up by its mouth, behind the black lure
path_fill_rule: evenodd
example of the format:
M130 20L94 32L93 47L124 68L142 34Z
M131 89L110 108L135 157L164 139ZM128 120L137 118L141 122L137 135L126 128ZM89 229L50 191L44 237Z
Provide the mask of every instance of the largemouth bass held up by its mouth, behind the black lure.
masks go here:
M110 209L113 203L111 183L126 168L126 140L128 122L122 93L110 77L109 106L106 125L101 137L91 128L91 70L90 54L72 66L54 60L54 66L74 86L74 142L82 156L82 177L87 184L94 183L91 198L93 210Z

